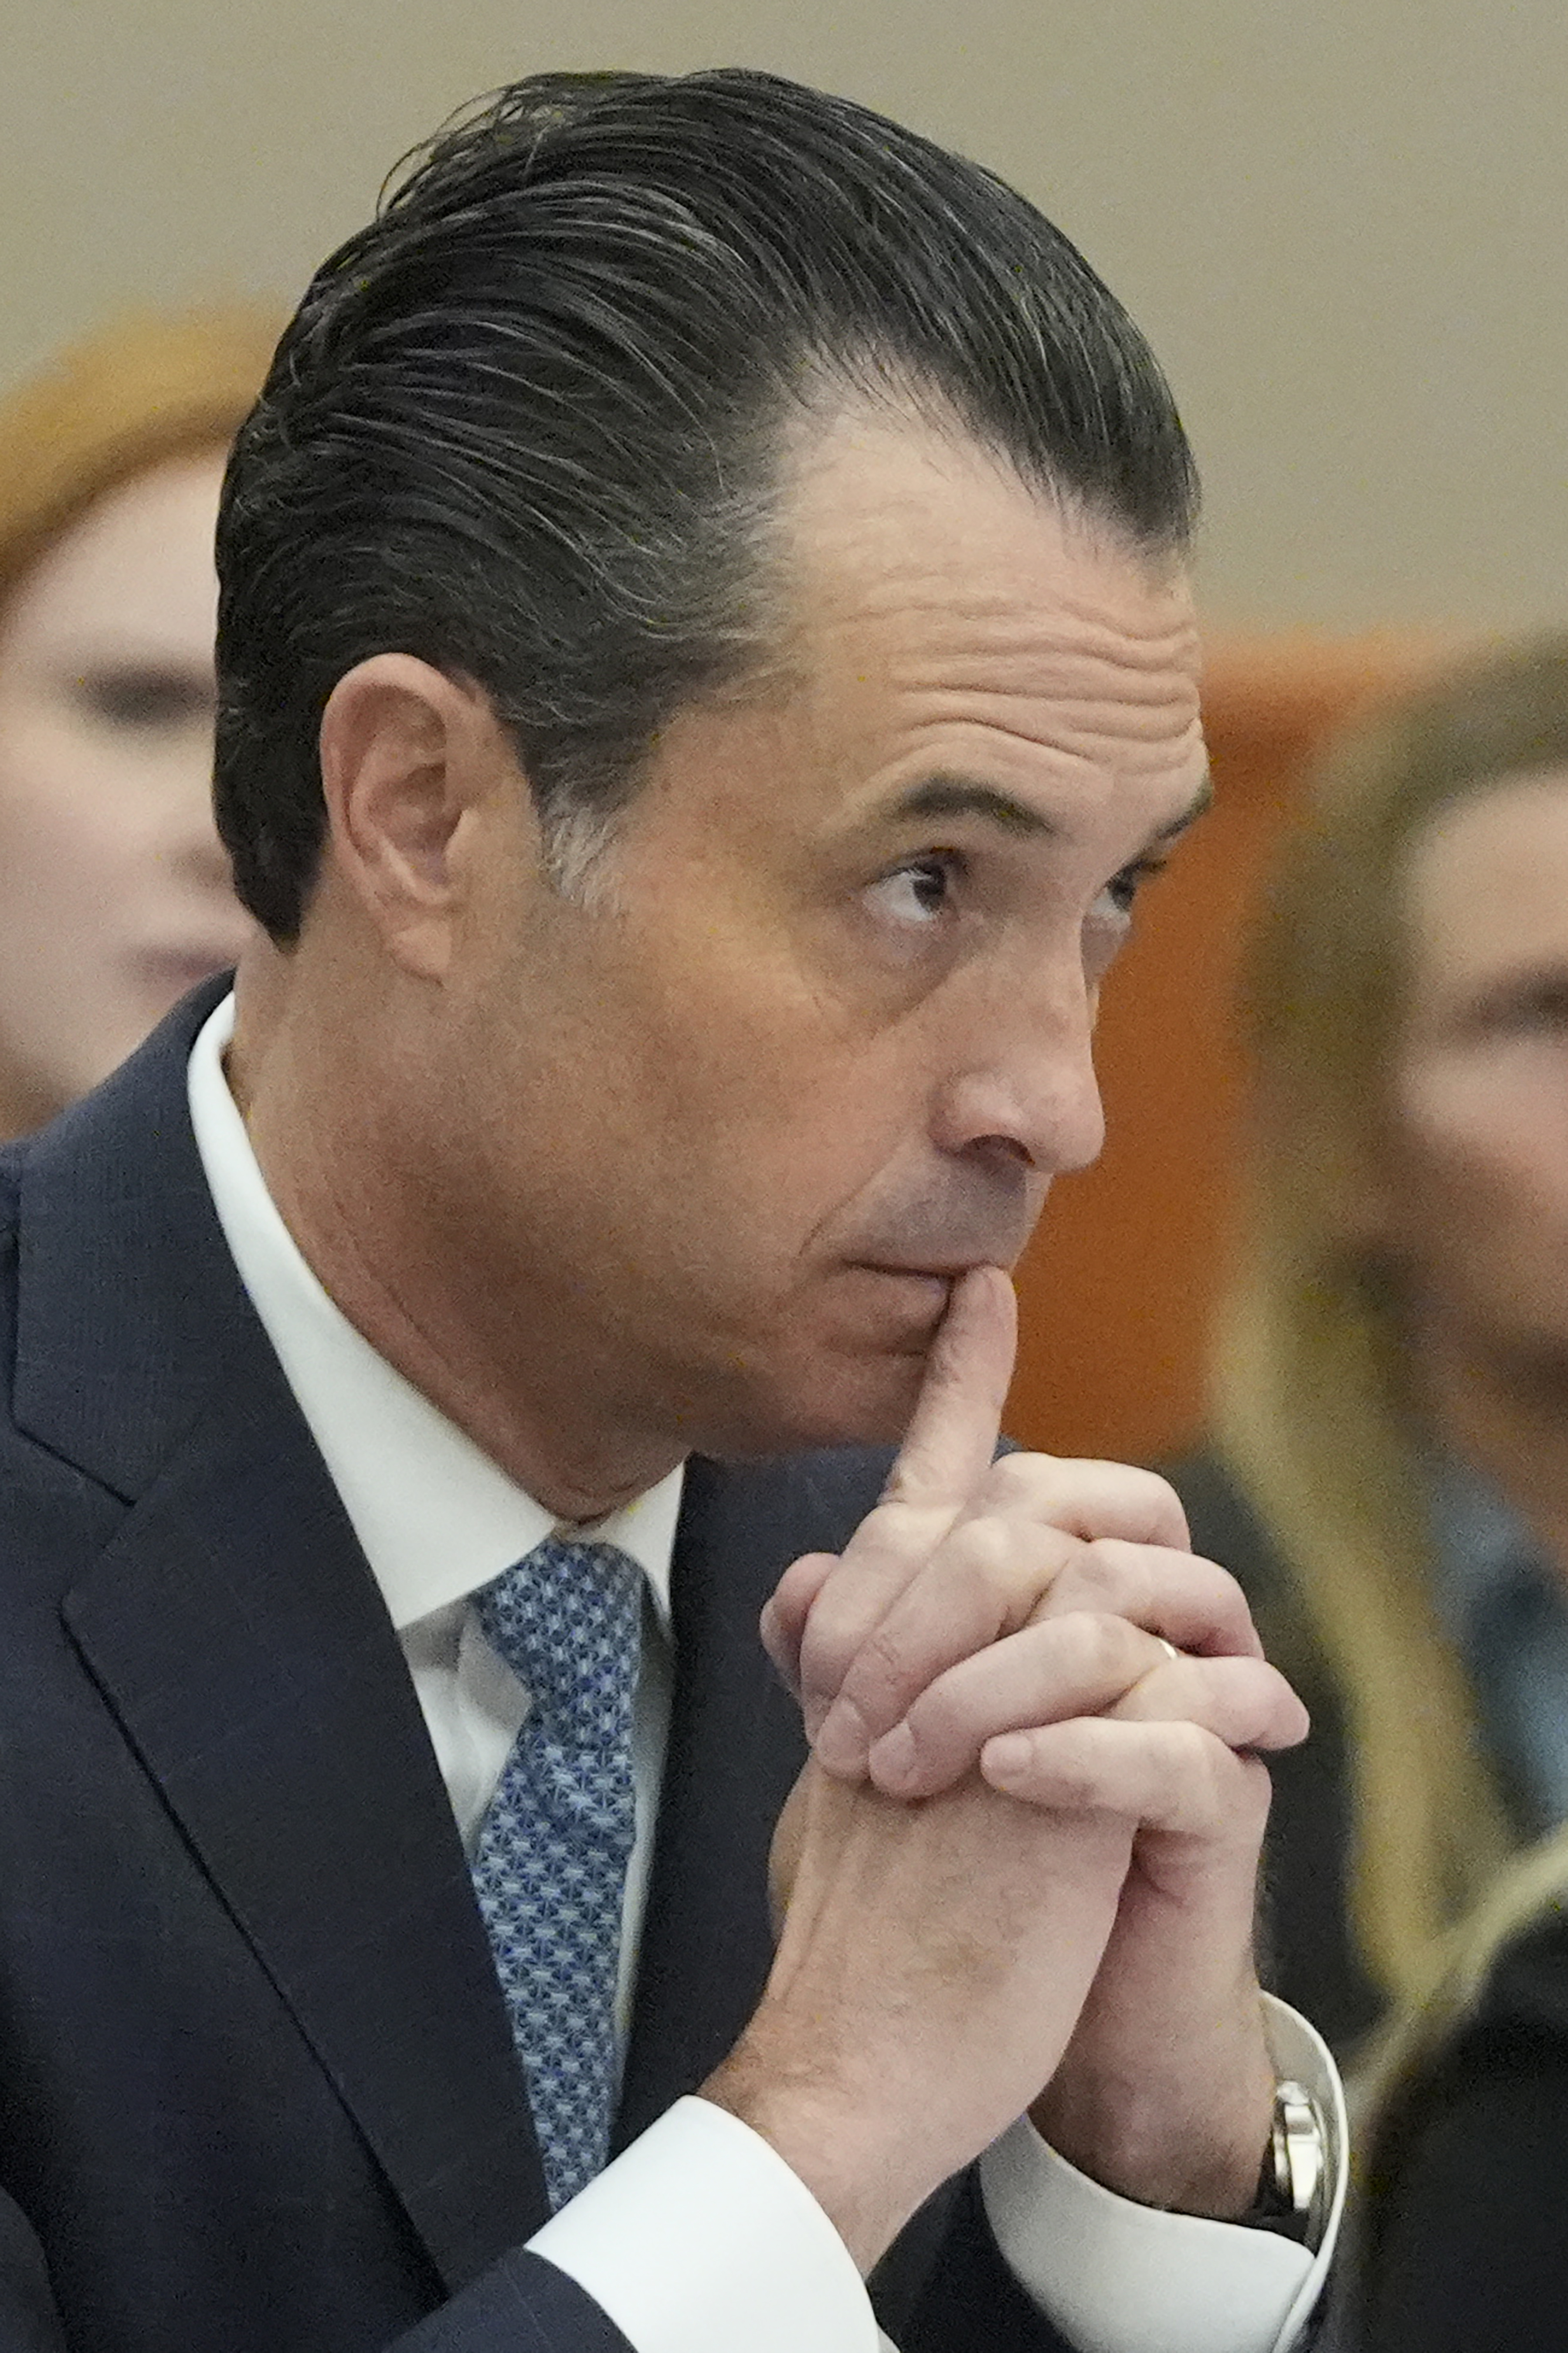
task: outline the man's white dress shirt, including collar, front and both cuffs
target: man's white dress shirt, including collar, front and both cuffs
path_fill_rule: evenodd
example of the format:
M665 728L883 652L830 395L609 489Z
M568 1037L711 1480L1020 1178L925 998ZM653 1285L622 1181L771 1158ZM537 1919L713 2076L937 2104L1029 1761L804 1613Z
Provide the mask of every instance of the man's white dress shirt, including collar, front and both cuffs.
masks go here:
M191 1052L191 1122L219 1224L320 1447L414 1678L457 1824L473 1847L527 1694L471 1607L560 1522L334 1306L287 1233L224 1078L233 1000ZM619 2028L647 1897L671 1692L669 1572L680 1471L591 1529L647 1581L633 1720L638 1835L626 1875ZM991 2228L1019 2285L1083 2353L1283 2353L1311 2311L1344 2195L1344 2108L1314 2031L1271 2005L1281 2073L1330 2118L1326 2245L1158 2214L1114 2198L1019 2120L982 2160ZM530 2242L636 2353L873 2353L859 2273L798 2174L735 2115L680 2099Z

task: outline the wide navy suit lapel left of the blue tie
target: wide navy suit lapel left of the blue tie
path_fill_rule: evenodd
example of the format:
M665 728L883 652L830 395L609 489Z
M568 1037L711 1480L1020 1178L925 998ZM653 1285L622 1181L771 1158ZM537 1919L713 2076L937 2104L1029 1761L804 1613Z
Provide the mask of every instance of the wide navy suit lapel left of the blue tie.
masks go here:
M19 1419L132 1501L66 1624L454 2287L544 2221L539 2155L403 1652L200 1179L202 1012L28 1172Z

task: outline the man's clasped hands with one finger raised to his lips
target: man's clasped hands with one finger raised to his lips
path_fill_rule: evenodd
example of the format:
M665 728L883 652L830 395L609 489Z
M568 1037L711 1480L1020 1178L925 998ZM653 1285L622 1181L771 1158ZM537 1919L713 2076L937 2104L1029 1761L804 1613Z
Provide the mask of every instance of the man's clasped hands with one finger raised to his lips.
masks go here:
M1109 2188L1220 2217L1269 2132L1260 1751L1307 1713L1163 1480L994 1459L1012 1353L1012 1289L977 1268L876 1511L763 1619L815 1755L713 2097L864 2261L1024 2108Z

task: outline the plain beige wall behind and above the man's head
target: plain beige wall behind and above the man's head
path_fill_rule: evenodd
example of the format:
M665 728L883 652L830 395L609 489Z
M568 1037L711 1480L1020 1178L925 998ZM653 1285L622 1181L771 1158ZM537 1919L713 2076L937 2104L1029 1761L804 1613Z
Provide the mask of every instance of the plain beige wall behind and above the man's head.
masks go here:
M1563 0L0 0L0 381L297 294L534 66L758 64L1003 169L1154 334L1241 624L1568 619Z

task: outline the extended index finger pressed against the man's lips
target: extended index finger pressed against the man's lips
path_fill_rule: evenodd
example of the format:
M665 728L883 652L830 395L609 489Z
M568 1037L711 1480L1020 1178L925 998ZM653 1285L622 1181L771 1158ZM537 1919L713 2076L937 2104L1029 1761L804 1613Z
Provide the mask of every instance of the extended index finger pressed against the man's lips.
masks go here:
M800 1706L812 1739L850 1661L991 1468L1015 1351L1012 1285L998 1266L972 1266L954 1285L937 1327L883 1497L812 1600L798 1645Z

